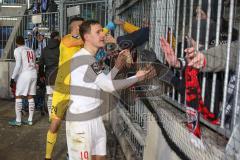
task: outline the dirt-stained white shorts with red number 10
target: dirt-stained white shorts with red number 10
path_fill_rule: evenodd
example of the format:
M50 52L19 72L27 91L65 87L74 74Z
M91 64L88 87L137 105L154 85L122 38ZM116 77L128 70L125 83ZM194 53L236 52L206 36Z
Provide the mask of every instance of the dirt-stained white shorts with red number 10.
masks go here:
M69 160L90 160L106 155L106 130L102 117L88 121L66 121Z

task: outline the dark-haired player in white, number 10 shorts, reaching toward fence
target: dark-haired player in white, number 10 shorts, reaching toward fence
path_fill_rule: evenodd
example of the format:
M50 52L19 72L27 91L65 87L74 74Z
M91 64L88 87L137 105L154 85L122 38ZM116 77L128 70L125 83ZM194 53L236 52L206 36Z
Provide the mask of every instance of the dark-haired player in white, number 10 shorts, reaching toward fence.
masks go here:
M69 160L105 160L106 131L100 115L103 100L100 91L114 92L136 82L155 76L153 68L139 70L127 79L114 77L126 61L128 50L119 53L113 69L105 75L95 56L104 47L105 35L97 21L89 20L80 26L84 48L71 60L70 106L66 115L66 135ZM121 58L123 57L123 58Z

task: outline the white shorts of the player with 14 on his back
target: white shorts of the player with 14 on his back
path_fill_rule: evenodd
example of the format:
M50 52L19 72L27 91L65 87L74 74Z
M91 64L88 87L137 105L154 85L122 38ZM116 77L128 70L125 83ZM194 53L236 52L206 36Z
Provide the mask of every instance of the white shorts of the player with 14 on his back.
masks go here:
M36 95L37 77L35 73L21 73L17 79L16 96Z

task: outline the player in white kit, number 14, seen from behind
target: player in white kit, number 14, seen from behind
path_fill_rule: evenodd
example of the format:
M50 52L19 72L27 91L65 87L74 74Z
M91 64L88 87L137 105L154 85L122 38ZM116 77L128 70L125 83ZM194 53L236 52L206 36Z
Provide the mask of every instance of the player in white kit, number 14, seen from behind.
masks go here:
M35 108L33 96L36 95L37 84L36 55L32 49L24 45L24 38L22 36L17 36L16 44L17 48L14 50L16 64L10 81L10 87L13 87L16 82L16 120L10 121L9 124L12 126L21 126L22 98L27 97L29 103L29 117L25 123L32 125Z

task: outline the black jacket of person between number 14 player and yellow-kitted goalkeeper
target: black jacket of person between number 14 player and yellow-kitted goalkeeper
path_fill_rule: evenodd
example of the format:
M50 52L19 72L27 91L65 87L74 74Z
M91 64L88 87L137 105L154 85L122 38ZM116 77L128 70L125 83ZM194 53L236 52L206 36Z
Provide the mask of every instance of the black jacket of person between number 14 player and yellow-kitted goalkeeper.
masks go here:
M46 85L55 84L60 53L59 45L59 40L50 39L39 60L39 74L45 76Z

